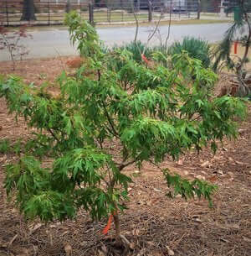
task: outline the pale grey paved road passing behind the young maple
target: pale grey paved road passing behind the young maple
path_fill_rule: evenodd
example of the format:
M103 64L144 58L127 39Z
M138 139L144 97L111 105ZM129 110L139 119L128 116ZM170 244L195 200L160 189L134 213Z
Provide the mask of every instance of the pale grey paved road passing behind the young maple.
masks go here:
M190 24L174 25L171 27L169 44L174 40L180 40L186 35L207 39L210 42L217 42L223 38L223 33L228 29L229 24ZM139 29L138 39L146 42L150 33L149 27ZM161 26L161 34L167 34L167 26ZM134 39L135 28L105 28L97 29L106 45L123 44ZM53 57L57 55L76 55L74 47L69 44L69 33L62 29L48 29L31 32L33 39L23 42L30 49L28 58ZM158 44L158 39L154 38L151 44ZM0 60L8 60L7 52L0 51Z

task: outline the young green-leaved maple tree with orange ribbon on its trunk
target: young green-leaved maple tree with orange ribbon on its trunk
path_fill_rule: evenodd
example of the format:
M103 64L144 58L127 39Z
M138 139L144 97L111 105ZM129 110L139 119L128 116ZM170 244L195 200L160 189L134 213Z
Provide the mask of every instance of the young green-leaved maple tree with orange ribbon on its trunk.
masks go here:
M69 13L66 24L85 64L75 77L59 77L58 96L17 76L0 82L9 111L37 128L18 160L6 166L5 188L8 195L16 191L28 218L64 221L79 208L94 220L112 216L116 241L122 243L119 216L132 181L125 167L158 165L207 144L215 151L224 136L237 135L233 118L243 118L245 106L238 98L213 97L217 76L186 53L173 56L172 70L157 62L150 69L126 50L105 53L95 29L78 14ZM120 149L116 155L111 143ZM44 168L48 157L54 162ZM169 196L211 201L214 185L162 172Z

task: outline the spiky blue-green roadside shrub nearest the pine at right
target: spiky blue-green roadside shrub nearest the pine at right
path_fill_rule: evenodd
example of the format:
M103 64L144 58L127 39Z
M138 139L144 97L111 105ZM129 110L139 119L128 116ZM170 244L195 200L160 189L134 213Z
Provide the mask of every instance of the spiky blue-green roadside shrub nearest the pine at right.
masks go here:
M210 65L210 45L207 41L194 37L185 37L182 42L173 43L169 49L169 55L181 54L187 51L189 57L201 60L202 65L207 68Z

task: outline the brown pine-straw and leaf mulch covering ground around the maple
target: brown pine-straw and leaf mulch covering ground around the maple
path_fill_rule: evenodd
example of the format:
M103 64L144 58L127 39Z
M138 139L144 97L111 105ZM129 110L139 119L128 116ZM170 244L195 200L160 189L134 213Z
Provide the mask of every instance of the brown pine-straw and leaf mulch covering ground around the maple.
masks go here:
M70 58L26 60L18 63L25 81L54 82ZM10 73L11 64L0 64L0 73ZM155 166L144 165L130 187L129 210L121 216L121 228L131 242L130 255L136 256L250 256L251 255L251 107L240 123L236 141L225 140L213 155L204 149L197 156L186 154L177 163L166 159L162 166L188 178L198 177L218 185L213 207L207 201L168 199L166 183ZM0 99L0 138L17 138L31 133L25 123L15 123ZM114 149L116 150L116 149ZM113 229L101 234L107 220L91 222L85 212L74 221L25 222L8 202L3 190L3 165L13 159L0 154L0 256L3 255L123 255L113 246Z

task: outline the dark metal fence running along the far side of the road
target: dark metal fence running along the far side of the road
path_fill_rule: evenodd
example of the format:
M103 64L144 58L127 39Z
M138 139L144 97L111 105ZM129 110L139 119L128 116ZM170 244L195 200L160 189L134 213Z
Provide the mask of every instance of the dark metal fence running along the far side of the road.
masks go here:
M0 24L56 25L64 23L69 10L77 11L92 24L151 22L158 20L197 18L198 10L219 13L218 4L202 7L197 0L0 0ZM30 18L31 13L33 17ZM28 17L29 16L29 17ZM31 20L28 20L31 19Z

